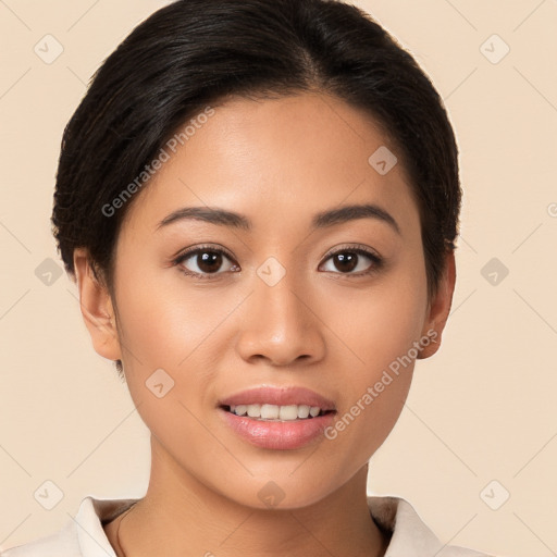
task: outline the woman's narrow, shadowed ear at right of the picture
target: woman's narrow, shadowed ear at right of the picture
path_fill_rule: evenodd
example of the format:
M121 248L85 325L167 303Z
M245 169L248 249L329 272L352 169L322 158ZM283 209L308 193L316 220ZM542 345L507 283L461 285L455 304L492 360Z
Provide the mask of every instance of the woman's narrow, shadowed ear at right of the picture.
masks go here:
M440 282L437 294L430 302L428 319L422 330L422 338L429 337L431 342L419 351L417 357L419 360L433 356L441 346L441 337L453 304L456 275L455 251L450 250L445 255L445 272ZM435 337L433 337L432 331L435 331Z

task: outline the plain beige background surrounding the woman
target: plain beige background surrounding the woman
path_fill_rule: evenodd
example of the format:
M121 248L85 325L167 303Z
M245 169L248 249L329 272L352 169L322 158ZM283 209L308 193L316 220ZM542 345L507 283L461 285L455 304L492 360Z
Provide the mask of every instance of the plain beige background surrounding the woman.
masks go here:
M58 530L85 495L146 488L148 432L92 350L75 286L65 275L48 286L35 270L47 258L61 268L49 218L63 126L100 62L163 3L0 0L3 548ZM411 50L445 99L465 189L444 343L417 364L407 408L372 459L370 493L408 498L444 542L555 555L557 2L356 3ZM51 64L34 52L47 34L64 49ZM510 51L493 63L505 44ZM496 268L482 274L492 258L497 284L487 275ZM47 480L63 492L52 510L34 498ZM486 502L506 491L492 510Z

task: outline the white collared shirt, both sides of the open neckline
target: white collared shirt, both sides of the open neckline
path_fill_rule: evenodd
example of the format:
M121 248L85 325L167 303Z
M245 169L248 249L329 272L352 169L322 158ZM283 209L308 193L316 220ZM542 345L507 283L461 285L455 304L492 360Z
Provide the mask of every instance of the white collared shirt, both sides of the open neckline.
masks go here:
M115 557L102 523L113 520L138 499L85 497L74 519L55 534L0 554L0 557ZM412 506L399 497L368 496L373 520L391 533L384 557L490 557L440 542Z

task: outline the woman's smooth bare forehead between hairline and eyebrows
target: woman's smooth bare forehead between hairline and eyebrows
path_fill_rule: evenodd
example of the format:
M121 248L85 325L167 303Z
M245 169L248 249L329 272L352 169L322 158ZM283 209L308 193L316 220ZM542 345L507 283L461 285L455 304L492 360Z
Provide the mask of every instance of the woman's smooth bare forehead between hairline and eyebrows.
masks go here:
M261 230L362 202L401 227L419 225L401 157L364 112L318 94L235 98L213 110L163 147L168 160L127 215L134 226L152 232L178 207L210 206L249 214Z

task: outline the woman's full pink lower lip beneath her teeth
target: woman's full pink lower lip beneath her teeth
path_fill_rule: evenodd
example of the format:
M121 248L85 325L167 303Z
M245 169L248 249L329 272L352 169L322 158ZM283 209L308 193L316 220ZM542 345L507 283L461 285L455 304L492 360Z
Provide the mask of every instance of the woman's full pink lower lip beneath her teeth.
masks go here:
M236 416L223 408L220 413L226 423L244 440L257 447L271 449L296 449L323 436L323 430L331 425L335 412L315 418L292 421L265 421L248 416Z

